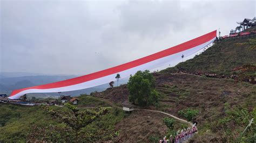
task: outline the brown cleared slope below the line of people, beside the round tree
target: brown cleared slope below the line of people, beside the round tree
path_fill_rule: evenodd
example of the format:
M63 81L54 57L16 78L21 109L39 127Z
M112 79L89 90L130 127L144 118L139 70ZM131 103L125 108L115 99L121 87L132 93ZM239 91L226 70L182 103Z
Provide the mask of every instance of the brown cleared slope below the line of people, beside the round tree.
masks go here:
M256 105L256 87L249 83L235 83L233 80L207 78L189 74L155 74L157 90L160 92L160 105L158 108L151 106L150 109L165 111L172 115L178 115L183 109L197 109L197 116L201 135L200 140L224 141L222 130L217 130L220 121L227 118L228 110L248 111L248 117L253 117ZM125 85L113 90L95 92L93 96L108 99L120 105L127 100L129 92ZM250 113L251 112L251 113ZM254 113L255 114L255 113ZM238 113L239 116L243 116ZM181 117L183 118L183 117ZM241 117L239 117L241 118ZM228 121L227 121L228 122ZM233 124L233 123L232 123ZM244 130L246 124L234 124L223 130L233 130L233 135ZM234 127L232 129L232 127ZM237 131L234 131L237 130ZM213 132L210 137L206 131ZM137 134L139 135L139 133ZM234 138L233 135L228 138Z

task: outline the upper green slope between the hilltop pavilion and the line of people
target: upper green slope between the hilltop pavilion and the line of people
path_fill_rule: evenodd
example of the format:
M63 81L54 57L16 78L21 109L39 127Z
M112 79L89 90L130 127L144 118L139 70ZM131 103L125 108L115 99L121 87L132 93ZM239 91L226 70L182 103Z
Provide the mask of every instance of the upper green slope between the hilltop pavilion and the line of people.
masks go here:
M256 39L256 36L250 39ZM217 42L212 47L208 48L202 54L193 59L179 63L176 67L167 68L161 73L174 73L178 68L184 69L191 73L215 73L218 75L231 75L232 69L250 63L256 64L256 48L251 48L253 45L244 44L251 42L249 39L229 39ZM256 44L251 42L251 44Z

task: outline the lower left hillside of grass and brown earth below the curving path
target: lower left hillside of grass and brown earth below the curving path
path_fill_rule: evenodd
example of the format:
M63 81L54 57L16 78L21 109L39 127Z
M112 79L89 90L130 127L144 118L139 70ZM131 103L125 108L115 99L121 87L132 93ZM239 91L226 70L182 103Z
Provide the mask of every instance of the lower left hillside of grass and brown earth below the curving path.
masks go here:
M132 113L124 113L122 109L116 108L112 103L101 98L87 95L79 96L78 107L86 109L86 107L102 106L112 107L110 111L93 121L82 130L87 134L87 141L156 141L165 135L168 130L163 123L163 118L168 117L161 113L138 110ZM0 103L0 142L24 142L30 139L30 134L38 132L35 127L45 127L49 125L62 126L56 119L52 118L49 113L44 110L43 106L22 106L8 105ZM63 111L64 108L58 106L50 106L50 109ZM134 118L136 118L134 120ZM187 126L185 123L176 121L174 130L179 130L181 126ZM62 132L53 133L61 135ZM52 134L52 135L53 135ZM64 138L69 137L66 133ZM104 138L103 138L104 137ZM50 138L50 137L49 137ZM70 137L71 139L71 137ZM58 139L59 141L62 139ZM62 141L63 141L62 140Z

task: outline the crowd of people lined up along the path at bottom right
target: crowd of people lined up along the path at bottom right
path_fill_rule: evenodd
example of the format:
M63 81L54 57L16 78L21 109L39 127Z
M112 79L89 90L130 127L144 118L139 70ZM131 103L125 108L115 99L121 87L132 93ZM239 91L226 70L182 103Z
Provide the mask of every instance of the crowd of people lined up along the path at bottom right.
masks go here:
M197 126L196 126L196 123L195 123L195 124L193 124L192 127L188 127L187 129L184 128L184 130L177 131L175 137L170 135L169 139L167 139L166 136L165 136L164 139L160 140L159 142L160 143L167 143L167 142L181 143L185 140L188 140L188 139L192 138L194 133L196 133L196 132L197 132Z

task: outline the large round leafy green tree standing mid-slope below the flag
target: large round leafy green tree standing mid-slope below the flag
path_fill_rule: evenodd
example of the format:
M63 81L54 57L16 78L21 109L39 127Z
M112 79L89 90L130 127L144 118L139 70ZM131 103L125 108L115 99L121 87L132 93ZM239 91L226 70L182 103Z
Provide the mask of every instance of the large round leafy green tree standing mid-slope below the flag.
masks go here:
M158 102L158 92L154 90L155 79L149 70L137 71L129 78L127 86L130 92L129 101L133 104L147 106Z

